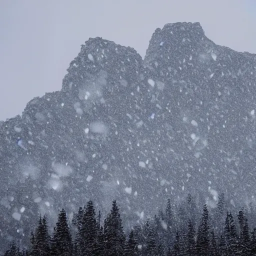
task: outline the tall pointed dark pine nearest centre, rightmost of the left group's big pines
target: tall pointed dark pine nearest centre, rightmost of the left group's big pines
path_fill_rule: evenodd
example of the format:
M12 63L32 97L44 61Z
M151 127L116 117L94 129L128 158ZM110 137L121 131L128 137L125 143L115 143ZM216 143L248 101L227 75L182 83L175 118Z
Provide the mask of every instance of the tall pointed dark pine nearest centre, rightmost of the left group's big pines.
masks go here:
M112 209L104 221L104 255L122 256L124 253L125 236L119 214L119 208L114 200Z

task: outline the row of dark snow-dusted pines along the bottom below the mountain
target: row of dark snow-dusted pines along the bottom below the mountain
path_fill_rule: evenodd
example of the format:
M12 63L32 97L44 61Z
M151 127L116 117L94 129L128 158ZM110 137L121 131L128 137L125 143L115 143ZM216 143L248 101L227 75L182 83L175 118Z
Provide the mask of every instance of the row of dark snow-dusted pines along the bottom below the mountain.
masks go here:
M4 256L256 255L256 228L249 226L247 218L255 214L252 208L232 214L224 207L223 194L213 211L209 212L205 204L199 216L190 194L178 211L172 206L168 199L164 210L125 234L115 200L103 221L93 202L88 201L70 224L62 209L51 235L46 216L40 216L31 232L30 246L20 250L12 242Z

